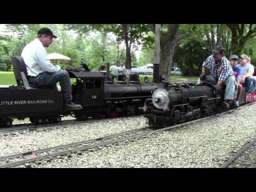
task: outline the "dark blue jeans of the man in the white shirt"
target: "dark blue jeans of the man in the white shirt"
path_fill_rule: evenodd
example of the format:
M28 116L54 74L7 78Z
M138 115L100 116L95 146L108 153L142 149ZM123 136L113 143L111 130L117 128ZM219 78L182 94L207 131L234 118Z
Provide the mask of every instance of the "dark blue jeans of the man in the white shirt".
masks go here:
M63 91L64 102L72 100L70 77L67 71L60 70L53 73L43 72L36 77L28 78L31 84L49 84L57 89L56 83L60 82Z

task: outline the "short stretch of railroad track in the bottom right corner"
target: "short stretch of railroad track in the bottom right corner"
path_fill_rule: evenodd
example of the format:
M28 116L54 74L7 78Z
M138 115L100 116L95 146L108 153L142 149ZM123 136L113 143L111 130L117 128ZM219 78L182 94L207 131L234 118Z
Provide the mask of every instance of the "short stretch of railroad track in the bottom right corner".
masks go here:
M256 138L231 156L220 168L256 168Z

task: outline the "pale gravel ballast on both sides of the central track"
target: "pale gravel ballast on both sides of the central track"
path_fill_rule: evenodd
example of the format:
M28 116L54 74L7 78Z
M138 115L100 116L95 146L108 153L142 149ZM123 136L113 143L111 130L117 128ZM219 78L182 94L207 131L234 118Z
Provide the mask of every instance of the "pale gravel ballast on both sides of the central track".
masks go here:
M44 168L212 168L256 136L256 104L170 131L54 159ZM85 123L46 132L0 135L0 156L142 128L143 116ZM20 165L17 167L24 167Z

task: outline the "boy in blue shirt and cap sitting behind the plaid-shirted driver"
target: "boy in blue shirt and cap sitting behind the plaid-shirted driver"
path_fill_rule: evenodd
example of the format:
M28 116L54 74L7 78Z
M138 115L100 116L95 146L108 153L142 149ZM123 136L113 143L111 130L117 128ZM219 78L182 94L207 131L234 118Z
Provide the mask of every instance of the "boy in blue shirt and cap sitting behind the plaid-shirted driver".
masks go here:
M230 56L230 66L233 69L234 76L236 78L236 89L238 90L237 96L236 96L236 102L234 103L235 107L239 107L238 101L242 94L242 85L239 83L241 75L242 75L242 69L240 67L236 66L238 64L238 60L239 60L238 56L236 56L236 55Z

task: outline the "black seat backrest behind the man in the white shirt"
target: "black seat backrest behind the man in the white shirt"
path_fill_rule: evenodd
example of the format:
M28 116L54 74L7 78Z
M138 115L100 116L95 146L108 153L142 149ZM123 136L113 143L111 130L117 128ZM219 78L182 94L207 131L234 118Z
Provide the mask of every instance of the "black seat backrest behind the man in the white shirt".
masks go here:
M22 82L22 76L20 72L24 72L25 76L28 76L26 64L21 56L13 56L11 63L17 84L20 85Z

